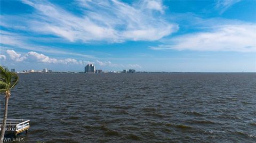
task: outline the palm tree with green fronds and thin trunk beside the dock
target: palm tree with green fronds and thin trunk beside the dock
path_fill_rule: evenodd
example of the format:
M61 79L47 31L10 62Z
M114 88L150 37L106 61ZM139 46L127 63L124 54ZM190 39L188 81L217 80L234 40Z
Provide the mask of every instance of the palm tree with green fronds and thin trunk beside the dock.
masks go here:
M5 108L4 108L4 120L1 128L1 140L0 142L3 142L4 139L4 132L5 132L5 126L6 126L6 119L7 119L7 110L8 110L8 102L9 98L11 96L11 89L17 85L18 82L18 75L14 72L9 72L7 69L3 69L2 66L0 66L0 92L5 93Z

